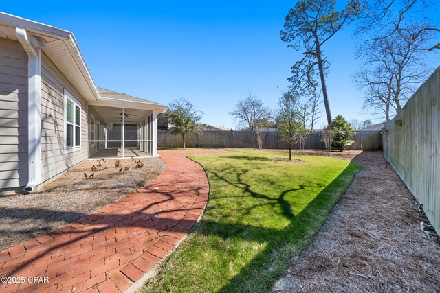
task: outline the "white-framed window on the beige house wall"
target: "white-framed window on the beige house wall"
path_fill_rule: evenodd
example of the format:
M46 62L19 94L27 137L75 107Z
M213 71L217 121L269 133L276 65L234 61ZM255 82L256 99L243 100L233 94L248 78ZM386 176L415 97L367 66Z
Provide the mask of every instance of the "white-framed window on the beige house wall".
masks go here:
M81 104L64 90L65 152L81 149Z

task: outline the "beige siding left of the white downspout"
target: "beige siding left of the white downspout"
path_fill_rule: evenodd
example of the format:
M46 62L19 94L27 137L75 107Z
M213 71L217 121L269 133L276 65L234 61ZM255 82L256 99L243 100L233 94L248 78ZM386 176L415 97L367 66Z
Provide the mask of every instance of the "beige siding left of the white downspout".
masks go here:
M0 38L0 189L28 184L28 55Z

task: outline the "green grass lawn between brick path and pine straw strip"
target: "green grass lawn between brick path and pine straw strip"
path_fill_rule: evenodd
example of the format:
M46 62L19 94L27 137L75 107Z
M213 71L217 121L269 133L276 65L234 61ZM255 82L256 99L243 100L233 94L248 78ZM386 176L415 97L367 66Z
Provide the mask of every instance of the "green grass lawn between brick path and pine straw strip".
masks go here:
M265 292L305 249L361 167L281 152L190 156L210 198L190 235L141 292Z

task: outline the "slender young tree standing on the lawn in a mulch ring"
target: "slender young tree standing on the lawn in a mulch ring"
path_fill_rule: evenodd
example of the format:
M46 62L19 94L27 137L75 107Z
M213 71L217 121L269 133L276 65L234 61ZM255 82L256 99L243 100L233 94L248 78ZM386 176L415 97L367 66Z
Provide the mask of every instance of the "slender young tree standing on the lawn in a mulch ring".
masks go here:
M278 101L278 106L276 128L281 132L281 141L289 145L289 160L292 160L292 145L298 137L298 131L303 126L298 121L296 98L292 94L283 93L283 97Z

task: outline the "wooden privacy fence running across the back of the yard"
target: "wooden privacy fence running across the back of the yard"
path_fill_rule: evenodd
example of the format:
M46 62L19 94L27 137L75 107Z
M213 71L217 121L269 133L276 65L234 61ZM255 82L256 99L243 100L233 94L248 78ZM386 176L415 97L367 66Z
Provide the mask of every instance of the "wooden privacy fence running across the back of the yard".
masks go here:
M357 131L352 138L355 142L347 150L382 150L382 134L377 130ZM157 131L159 148L181 148L181 136L166 131ZM188 134L186 137L188 148L258 148L254 131L204 131L198 134ZM281 142L280 132L267 131L263 148L287 149L286 143ZM299 149L298 143L293 148ZM325 149L320 138L320 132L314 131L305 142L305 148Z

